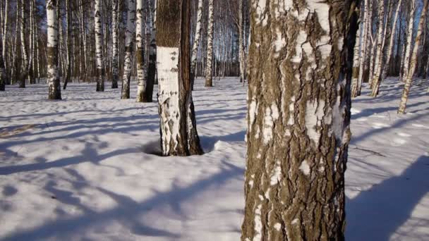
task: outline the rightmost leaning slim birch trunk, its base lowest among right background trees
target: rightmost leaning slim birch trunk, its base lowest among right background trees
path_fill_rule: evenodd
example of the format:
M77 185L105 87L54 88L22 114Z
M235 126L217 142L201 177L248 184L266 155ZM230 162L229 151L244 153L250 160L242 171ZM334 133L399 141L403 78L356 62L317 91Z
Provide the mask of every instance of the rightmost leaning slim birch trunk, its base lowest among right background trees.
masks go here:
M405 113L406 101L408 101L408 95L411 89L411 83L413 82L413 75L414 75L414 72L416 71L418 47L421 42L423 27L425 27L425 18L427 17L426 15L428 13L428 3L429 3L429 0L424 0L424 3L423 3L424 5L421 11L420 20L418 22L416 41L414 42L413 52L411 53L409 71L406 74L404 91L402 92L401 102L399 103L398 113L400 114Z

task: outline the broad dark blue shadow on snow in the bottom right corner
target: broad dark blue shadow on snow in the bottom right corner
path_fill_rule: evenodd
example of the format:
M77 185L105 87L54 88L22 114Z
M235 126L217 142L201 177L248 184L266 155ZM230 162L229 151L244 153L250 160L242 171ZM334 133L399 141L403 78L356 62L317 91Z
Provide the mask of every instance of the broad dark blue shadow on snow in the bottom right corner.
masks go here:
M429 157L420 156L401 175L384 180L354 199L347 199L347 240L389 240L429 192L428 175ZM422 226L428 225L429 218L426 218ZM429 237L421 238L429 240Z

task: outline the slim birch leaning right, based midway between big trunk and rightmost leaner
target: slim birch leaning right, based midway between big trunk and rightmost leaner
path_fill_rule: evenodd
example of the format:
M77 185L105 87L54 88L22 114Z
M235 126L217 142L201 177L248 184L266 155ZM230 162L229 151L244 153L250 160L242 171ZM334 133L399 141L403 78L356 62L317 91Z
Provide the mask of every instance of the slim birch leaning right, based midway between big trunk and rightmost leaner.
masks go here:
M392 56L394 36L395 36L395 32L397 30L396 25L397 25L397 20L399 17L399 10L401 9L401 1L402 0L399 0L398 5L397 5L397 10L395 11L394 20L393 20L392 28L391 28L392 31L389 32L389 34L387 35L387 38L389 39L389 45L387 46L387 49L385 49L386 56L385 56L385 58L382 58L382 63L380 63L380 67L379 67L380 69L377 70L380 73L377 76L378 78L375 79L375 83L373 85L373 89L371 92L372 97L377 96L379 89L380 89L380 85L381 85L382 81L385 80L386 75L387 75L387 68L389 66L389 60L390 60L390 57ZM388 25L388 27L390 28L391 26Z

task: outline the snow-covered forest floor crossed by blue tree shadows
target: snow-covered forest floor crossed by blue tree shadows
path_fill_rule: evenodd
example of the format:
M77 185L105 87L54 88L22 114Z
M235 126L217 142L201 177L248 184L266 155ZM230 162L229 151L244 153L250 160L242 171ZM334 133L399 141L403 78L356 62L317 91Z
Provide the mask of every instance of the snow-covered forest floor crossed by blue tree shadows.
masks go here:
M429 240L428 81L354 100L347 240ZM206 154L160 157L157 104L69 84L0 93L0 240L239 240L246 87L193 93ZM131 89L136 89L135 83ZM155 90L156 91L156 90ZM135 96L134 91L132 92ZM154 98L155 99L155 98Z

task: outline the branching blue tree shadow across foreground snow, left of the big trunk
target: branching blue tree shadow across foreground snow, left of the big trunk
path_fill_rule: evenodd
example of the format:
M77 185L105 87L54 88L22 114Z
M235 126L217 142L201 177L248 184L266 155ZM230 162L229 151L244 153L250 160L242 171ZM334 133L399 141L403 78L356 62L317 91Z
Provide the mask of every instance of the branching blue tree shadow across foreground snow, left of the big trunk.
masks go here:
M223 185L231 178L236 178L244 173L243 168L229 163L224 162L224 166L225 167L222 168L219 173L206 179L199 180L187 187L174 187L167 192L157 192L155 196L143 202L135 202L129 197L98 187L97 190L117 202L116 207L106 211L90 211L85 208L85 214L82 216L59 218L55 221L49 221L40 227L8 235L4 240L48 240L52 237L72 237L71 235L76 232L83 232L87 230L87 228L91 228L95 225L102 226L104 223L111 223L112 221L121 223L128 228L131 233L136 235L170 237L172 240L178 239L180 234L171 233L168 230L159 228L152 228L150 227L150 223L143 223L143 221L141 221L142 216L145 216L145 213L151 209L162 208L162 206L166 205L180 205L181 202L186 202L187 199L191 199L199 192L207 190L207 187L212 185ZM49 190L56 192L56 190L52 188L52 185L49 186ZM69 198L70 194L66 192L61 192L60 196L61 195L63 197L66 196L66 200L64 200L66 204L79 202L79 200ZM61 202L61 199L59 199L59 202ZM78 203L75 205L80 206L81 204Z

